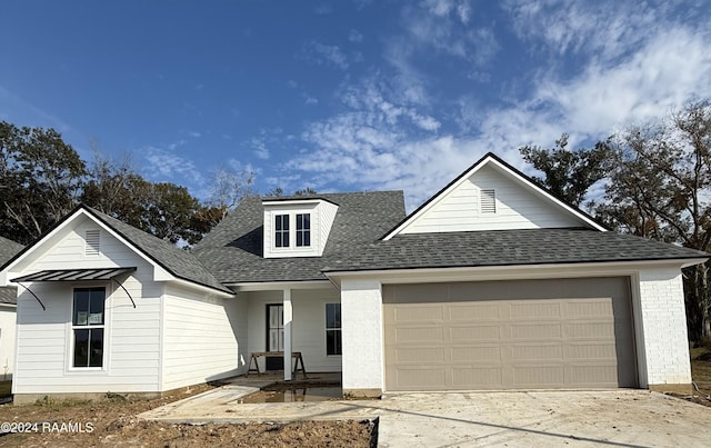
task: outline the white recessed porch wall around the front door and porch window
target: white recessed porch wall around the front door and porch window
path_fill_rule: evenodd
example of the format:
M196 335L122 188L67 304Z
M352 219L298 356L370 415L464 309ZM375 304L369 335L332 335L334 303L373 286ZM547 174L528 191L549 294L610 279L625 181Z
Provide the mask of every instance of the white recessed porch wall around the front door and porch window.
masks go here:
M249 352L267 347L267 305L283 302L281 291L247 292L249 301ZM301 351L307 372L341 371L341 357L326 355L326 303L340 302L334 289L291 292L293 308L292 350ZM264 360L260 359L260 368Z

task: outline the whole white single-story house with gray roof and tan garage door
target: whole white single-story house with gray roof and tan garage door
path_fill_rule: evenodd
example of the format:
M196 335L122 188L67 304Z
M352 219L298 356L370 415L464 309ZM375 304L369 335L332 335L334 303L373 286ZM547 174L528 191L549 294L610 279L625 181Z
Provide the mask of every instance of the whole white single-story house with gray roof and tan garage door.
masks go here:
M259 368L388 391L691 385L681 268L493 155L401 192L250 198L187 252L80 207L0 270L17 401L160 394Z

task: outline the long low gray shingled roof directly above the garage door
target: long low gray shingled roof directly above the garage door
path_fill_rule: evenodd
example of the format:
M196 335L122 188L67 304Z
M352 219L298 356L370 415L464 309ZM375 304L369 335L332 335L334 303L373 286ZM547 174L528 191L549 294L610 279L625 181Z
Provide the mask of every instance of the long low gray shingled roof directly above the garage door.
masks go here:
M679 260L709 253L592 229L519 229L398 235L323 271Z

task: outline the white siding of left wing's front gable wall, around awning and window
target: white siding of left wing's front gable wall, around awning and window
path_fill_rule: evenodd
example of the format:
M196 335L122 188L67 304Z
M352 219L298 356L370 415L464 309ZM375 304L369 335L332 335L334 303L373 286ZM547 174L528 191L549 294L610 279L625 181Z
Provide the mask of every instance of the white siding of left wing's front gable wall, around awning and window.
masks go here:
M160 387L160 312L162 286L153 267L108 231L101 230L99 255L86 250L86 230L99 226L82 217L36 248L13 277L44 269L137 267L123 281L136 301L112 282L33 282L28 286L47 307L20 288L13 394L143 392ZM58 237L58 238L57 238ZM90 255L87 255L90 253ZM72 289L107 288L104 358L101 368L72 367Z

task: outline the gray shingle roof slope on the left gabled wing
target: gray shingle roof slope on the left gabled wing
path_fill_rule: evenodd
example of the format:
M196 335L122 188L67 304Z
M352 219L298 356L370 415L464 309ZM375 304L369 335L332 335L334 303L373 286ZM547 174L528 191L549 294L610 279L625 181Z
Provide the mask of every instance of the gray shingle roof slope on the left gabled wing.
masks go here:
M130 241L136 248L143 251L153 261L162 266L173 276L183 280L192 281L224 292L232 292L221 285L214 276L187 250L177 248L174 245L146 233L123 221L112 218L106 213L82 206L84 210L93 215L97 219L109 226L117 233Z

